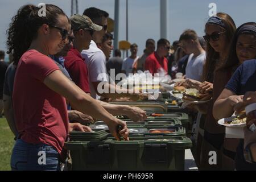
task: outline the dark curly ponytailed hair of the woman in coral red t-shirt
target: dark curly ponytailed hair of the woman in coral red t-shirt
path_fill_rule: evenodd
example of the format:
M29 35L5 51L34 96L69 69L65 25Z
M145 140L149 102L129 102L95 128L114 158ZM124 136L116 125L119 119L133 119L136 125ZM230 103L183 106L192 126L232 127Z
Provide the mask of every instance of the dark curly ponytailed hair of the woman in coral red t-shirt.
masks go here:
M39 10L40 8L34 5L25 5L20 7L11 19L6 44L7 53L13 53L15 65L38 35L39 27L44 23L56 24L58 15L65 15L63 10L55 5L46 5L46 16L39 16Z

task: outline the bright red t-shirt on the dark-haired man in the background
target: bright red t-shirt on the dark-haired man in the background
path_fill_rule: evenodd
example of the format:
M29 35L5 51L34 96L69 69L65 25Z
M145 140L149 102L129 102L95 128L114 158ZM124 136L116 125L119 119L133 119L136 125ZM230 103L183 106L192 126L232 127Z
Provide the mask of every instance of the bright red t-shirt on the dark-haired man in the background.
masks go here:
M145 61L145 70L150 71L150 73L158 73L158 69L163 68L166 73L168 73L168 60L166 57L160 58L156 52L151 53L146 58Z

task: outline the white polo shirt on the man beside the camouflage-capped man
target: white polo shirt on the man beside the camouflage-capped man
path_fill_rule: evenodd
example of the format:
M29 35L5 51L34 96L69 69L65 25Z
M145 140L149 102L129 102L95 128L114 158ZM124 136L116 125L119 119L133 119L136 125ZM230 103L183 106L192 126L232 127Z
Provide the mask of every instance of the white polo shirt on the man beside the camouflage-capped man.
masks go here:
M88 68L91 96L99 100L100 96L96 93L92 82L108 81L106 56L93 40L90 42L89 49L82 50L81 55L85 59Z

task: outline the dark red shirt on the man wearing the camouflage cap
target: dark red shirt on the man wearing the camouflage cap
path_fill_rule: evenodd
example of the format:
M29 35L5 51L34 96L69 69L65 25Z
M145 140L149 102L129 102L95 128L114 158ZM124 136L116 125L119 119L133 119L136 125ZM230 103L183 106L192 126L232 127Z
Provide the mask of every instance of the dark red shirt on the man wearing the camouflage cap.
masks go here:
M72 47L64 59L65 68L75 84L85 93L90 93L87 65L80 52Z

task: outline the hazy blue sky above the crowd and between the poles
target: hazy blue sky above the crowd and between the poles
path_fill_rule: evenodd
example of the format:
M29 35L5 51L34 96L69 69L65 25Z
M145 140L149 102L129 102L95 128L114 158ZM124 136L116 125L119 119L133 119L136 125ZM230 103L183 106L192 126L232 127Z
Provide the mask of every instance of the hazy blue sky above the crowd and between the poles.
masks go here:
M108 11L114 19L114 0L78 0L79 13L88 7ZM0 49L6 50L6 30L11 17L20 6L27 3L38 5L40 2L55 4L71 15L71 0L1 0L0 1ZM126 39L126 1L120 0L119 40ZM146 39L156 41L160 38L160 0L129 0L129 42L137 43L139 55L142 54ZM168 0L168 39L172 43L179 39L181 32L192 28L204 35L204 24L209 18L209 3L216 3L217 11L228 13L237 26L245 22L255 22L255 0Z

